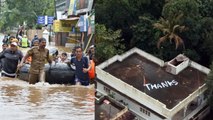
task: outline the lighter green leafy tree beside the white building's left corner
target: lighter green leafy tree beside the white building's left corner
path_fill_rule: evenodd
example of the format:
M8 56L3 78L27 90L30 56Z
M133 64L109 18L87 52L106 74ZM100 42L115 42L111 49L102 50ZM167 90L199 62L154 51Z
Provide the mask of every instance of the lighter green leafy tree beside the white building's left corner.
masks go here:
M116 54L123 53L124 45L120 42L120 30L106 29L104 25L96 24L96 58L101 63Z

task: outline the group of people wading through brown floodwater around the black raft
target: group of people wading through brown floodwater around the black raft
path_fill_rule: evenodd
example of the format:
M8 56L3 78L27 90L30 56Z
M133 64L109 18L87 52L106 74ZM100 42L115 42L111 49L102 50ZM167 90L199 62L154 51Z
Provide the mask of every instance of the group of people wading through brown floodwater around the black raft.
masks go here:
M24 35L25 36L25 35ZM25 37L23 37L25 38ZM75 66L75 83L87 86L95 78L95 46L90 46L87 53L83 53L80 46L73 48L68 57L68 53L63 52L59 55L50 56L49 50L46 48L45 38L35 38L31 42L31 48L23 55L19 49L19 40L12 37L9 42L2 44L2 52L0 53L1 75L15 78L18 70L24 64L30 64L29 83L35 84L39 81L45 82L45 64L49 63L66 63Z

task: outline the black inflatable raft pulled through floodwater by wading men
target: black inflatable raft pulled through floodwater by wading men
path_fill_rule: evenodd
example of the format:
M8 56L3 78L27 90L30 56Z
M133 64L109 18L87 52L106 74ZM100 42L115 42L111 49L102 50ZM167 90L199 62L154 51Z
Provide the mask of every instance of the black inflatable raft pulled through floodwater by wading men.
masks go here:
M20 80L28 81L30 65L25 64L18 73ZM49 84L75 84L75 70L66 63L45 64L45 82Z

